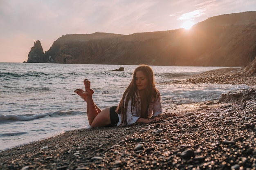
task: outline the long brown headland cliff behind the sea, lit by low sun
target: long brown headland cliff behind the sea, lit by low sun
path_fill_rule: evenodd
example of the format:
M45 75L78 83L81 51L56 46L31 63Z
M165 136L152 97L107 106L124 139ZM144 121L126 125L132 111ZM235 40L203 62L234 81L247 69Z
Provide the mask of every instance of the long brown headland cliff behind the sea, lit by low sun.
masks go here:
M27 62L38 61L39 53L32 56L31 51ZM253 11L211 17L190 30L63 35L41 59L77 64L246 66L255 56Z

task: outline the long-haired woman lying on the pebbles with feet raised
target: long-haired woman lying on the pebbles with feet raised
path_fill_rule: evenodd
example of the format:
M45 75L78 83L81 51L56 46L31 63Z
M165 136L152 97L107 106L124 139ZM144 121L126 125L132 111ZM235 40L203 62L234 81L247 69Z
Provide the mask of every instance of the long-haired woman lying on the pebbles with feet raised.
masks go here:
M154 84L154 75L150 66L141 65L134 71L132 81L126 88L119 106L101 110L92 99L94 91L90 88L90 81L83 81L85 91L77 89L74 92L87 102L87 115L90 126L127 126L135 122L150 123L159 121L162 117L155 117L162 113L160 93ZM173 116L173 115L168 115Z

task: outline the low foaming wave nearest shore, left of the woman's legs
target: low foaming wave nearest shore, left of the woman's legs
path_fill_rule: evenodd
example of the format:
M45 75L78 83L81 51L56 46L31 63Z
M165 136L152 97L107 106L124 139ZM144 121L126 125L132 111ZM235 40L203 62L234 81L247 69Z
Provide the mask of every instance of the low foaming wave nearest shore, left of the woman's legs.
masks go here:
M72 116L72 115L81 115L85 114L80 111L56 111L53 113L45 113L45 114L27 114L27 115L0 115L0 124L9 123L13 121L31 121L34 119L40 119L44 117L61 117L61 116Z

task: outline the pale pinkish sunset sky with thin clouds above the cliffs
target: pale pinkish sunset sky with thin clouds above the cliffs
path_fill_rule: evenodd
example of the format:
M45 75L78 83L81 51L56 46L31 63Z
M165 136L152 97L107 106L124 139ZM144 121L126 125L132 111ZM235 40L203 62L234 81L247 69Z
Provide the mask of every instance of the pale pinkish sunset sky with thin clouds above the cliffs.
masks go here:
M0 62L27 61L36 40L48 51L66 34L129 35L256 11L256 0L0 0Z

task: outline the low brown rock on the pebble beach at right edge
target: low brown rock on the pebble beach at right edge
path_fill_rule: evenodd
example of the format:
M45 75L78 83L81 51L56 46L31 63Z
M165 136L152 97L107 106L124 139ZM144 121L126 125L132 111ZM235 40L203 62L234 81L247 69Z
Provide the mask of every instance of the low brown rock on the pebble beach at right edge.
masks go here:
M248 90L238 89L229 91L228 93L222 94L218 102L245 102L248 100L256 100L256 88L249 88Z

